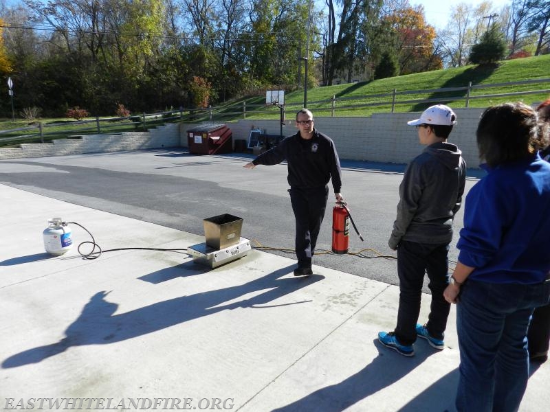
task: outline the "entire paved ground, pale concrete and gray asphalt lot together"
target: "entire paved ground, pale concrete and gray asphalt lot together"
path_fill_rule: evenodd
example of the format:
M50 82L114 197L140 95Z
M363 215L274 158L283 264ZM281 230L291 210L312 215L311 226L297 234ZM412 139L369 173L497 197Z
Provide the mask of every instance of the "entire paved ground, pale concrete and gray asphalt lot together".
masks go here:
M442 351L419 340L405 358L376 339L397 315L395 260L375 256L392 255L386 242L404 166L342 161L342 192L365 239L352 234L351 249L372 249L362 252L370 258L320 255L311 277L294 277L294 255L281 251L256 248L214 269L193 262L186 248L203 242L202 220L224 213L243 218L241 236L253 244L293 247L286 166L245 170L250 158L151 150L0 161L3 409L32 400L43 410L56 401L73 409L454 410L454 307ZM329 212L320 249L330 249ZM45 253L42 231L56 216L83 225L105 252L83 259L77 247L89 233L71 224L72 249ZM549 378L548 363L532 365L520 411L549 404Z

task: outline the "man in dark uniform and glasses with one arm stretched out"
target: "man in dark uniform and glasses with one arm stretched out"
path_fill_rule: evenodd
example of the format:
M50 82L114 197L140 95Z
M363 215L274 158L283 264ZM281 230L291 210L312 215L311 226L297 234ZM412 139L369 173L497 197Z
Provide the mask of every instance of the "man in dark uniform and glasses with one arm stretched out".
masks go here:
M298 268L294 270L294 276L308 276L313 273L311 258L325 217L330 179L336 201L343 201L340 194L342 172L334 142L314 128L314 115L307 108L296 113L296 127L298 133L244 167L254 169L256 165L276 165L287 161L288 192L296 218Z

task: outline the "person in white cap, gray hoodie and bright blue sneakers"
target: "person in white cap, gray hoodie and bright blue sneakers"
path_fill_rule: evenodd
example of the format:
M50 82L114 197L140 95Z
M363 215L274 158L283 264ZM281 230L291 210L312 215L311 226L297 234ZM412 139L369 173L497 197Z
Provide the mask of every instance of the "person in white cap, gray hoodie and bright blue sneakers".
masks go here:
M450 304L443 297L448 285L448 251L452 220L461 207L466 163L461 151L447 142L456 115L443 104L431 106L416 126L420 144L427 146L408 165L399 186L397 218L388 245L397 250L399 310L393 332L380 332L378 340L404 356L413 356L417 336L442 350ZM417 323L424 273L432 292L430 316ZM452 282L452 278L450 279Z

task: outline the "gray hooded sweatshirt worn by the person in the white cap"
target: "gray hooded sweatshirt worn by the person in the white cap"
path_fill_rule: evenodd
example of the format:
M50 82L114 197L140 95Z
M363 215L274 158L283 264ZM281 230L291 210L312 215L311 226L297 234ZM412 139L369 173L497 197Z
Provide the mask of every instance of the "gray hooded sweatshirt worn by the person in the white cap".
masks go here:
M459 211L466 163L454 144L430 144L408 165L399 185L397 218L388 245L401 240L443 244L452 240L452 220Z

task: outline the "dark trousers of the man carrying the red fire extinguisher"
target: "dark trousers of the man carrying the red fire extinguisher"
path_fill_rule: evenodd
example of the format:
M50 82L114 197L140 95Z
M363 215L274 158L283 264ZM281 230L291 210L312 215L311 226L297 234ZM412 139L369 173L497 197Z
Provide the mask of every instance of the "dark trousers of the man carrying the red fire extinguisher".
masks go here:
M329 187L288 190L296 218L296 258L299 268L311 268L317 237L325 217Z

